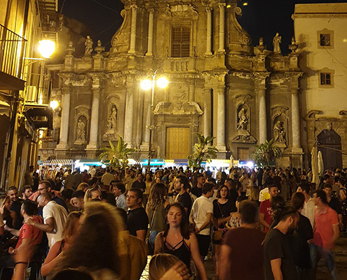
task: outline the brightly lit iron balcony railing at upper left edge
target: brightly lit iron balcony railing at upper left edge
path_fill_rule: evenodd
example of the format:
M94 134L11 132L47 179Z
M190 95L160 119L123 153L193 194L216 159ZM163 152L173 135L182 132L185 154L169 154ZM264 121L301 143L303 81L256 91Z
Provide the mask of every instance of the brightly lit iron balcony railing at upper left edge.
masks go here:
M22 48L25 48L27 40L15 32L0 25L0 71L8 75L20 78L20 60Z

